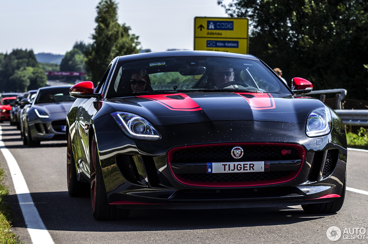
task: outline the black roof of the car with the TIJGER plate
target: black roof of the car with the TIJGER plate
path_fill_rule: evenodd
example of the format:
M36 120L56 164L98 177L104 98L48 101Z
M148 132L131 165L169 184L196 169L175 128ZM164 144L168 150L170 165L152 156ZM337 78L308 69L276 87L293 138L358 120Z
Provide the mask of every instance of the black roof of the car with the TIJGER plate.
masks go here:
M163 52L149 52L149 53L137 53L131 55L125 55L119 57L119 62L148 59L158 57L175 57L175 56L213 56L213 57L241 57L248 59L259 60L257 57L250 54L230 53L230 52L215 52L215 51L193 51L193 50L180 50L180 51L163 51Z

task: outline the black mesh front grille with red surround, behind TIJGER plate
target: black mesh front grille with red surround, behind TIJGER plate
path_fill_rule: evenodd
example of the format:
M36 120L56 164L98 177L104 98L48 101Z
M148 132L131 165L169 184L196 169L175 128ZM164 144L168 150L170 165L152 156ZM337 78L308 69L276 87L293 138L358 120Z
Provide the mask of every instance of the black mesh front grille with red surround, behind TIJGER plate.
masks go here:
M241 148L243 148L243 157L236 159L231 156L231 150L235 146L241 146ZM185 164L188 164L189 166L193 163L304 160L304 157L305 151L302 146L281 143L240 143L223 144L220 146L190 146L183 149L173 149L168 155L170 165L180 164L182 165L181 167L183 167L183 165L185 166ZM199 184L208 186L206 185L206 182L208 182L211 185L216 184L217 186L226 186L226 184L242 182L241 184L246 186L247 182L257 182L256 184L262 184L262 181L267 181L266 184L276 184L277 182L289 181L295 178L299 171L285 170L210 174L206 172L195 172L192 174L183 174L173 168L172 172L183 184Z

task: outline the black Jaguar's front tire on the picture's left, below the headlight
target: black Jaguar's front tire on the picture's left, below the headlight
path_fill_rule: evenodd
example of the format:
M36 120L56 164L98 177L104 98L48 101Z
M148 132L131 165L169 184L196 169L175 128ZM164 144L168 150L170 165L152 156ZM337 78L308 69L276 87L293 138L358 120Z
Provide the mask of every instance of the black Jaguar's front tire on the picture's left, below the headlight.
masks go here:
M107 201L105 182L103 180L97 143L93 136L90 147L91 157L91 207L96 220L127 219L129 209L118 209Z

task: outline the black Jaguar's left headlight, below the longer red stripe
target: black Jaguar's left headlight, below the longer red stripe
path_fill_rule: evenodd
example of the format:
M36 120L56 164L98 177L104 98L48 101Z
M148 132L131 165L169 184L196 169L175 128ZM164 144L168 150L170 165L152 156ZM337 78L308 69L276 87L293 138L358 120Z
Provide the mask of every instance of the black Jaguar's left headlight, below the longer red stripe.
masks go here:
M155 127L153 127L150 122L139 115L125 112L113 112L111 113L111 116L113 116L123 132L133 139L161 139L161 135L155 129Z

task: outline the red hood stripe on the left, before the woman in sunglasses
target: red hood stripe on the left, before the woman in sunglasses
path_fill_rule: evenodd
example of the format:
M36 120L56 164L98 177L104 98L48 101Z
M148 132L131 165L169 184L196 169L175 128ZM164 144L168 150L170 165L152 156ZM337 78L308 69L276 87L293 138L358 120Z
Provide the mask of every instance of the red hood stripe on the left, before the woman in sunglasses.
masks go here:
M160 95L145 95L137 96L141 98L146 98L161 105L164 105L170 110L176 111L198 111L202 110L201 107L195 102L191 97L184 93L177 94L160 94Z

